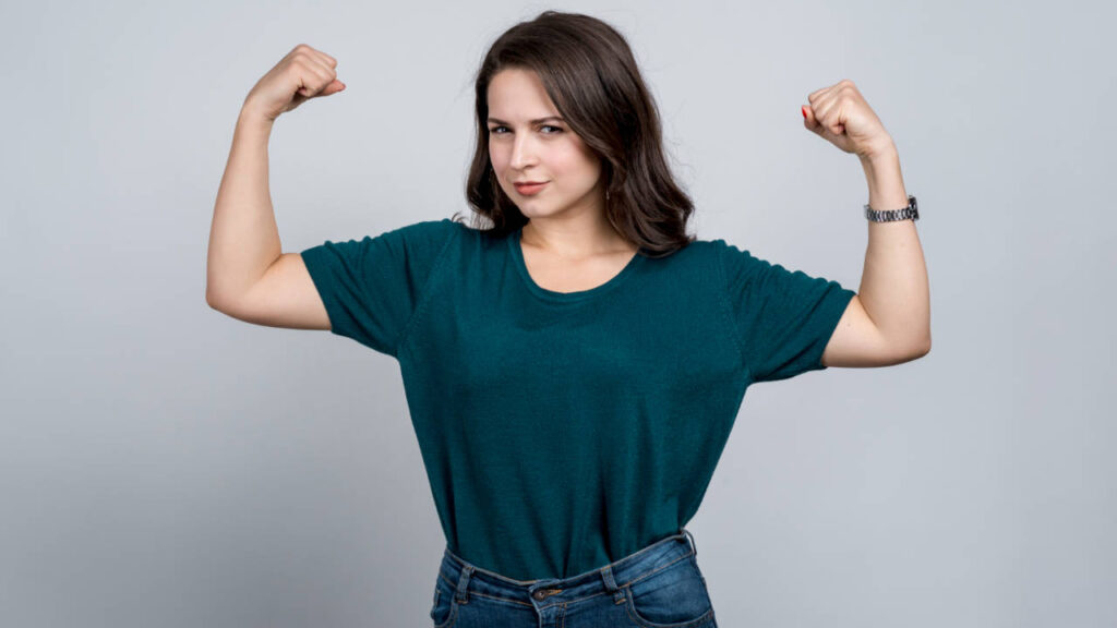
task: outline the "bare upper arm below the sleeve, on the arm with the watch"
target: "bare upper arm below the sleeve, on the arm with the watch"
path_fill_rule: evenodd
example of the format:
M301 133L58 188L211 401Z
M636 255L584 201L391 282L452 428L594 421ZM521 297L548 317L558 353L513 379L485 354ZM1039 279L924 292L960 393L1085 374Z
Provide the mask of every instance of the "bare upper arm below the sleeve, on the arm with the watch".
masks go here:
M869 317L859 295L853 295L822 352L825 367L890 367L927 352L915 352L889 342Z

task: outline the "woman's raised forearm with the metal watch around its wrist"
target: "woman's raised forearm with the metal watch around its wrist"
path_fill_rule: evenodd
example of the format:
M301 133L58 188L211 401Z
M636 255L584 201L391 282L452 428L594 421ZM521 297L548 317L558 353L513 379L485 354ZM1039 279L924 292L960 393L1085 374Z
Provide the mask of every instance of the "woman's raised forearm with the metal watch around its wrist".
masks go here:
M872 159L862 159L861 166L869 184L870 208L907 207L907 191L895 146ZM930 294L915 221L867 222L869 245L858 293L861 304L890 344L906 351L927 351L930 349Z

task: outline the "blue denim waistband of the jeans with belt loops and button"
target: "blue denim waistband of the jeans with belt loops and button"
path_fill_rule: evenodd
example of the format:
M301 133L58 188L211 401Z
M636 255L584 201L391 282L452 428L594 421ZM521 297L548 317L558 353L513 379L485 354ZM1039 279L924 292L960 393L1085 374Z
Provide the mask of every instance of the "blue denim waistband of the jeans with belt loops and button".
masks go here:
M660 539L642 550L577 575L565 579L514 580L481 569L447 548L439 567L439 577L455 588L455 597L459 603L468 601L470 591L528 605L543 601L548 606L551 602L572 602L602 593L612 594L620 601L623 599L621 588L624 586L697 553L694 535L681 529L678 534Z

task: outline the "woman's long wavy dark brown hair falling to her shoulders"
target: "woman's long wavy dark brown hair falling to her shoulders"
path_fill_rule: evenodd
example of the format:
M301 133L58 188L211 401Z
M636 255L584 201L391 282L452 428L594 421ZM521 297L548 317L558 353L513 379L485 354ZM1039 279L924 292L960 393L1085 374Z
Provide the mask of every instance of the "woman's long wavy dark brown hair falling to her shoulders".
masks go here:
M659 112L628 41L596 18L557 11L506 30L477 72L477 143L466 181L475 228L504 236L528 220L489 160L488 86L507 68L535 72L560 115L601 159L605 217L640 255L665 257L695 240L686 232L694 201L671 175Z

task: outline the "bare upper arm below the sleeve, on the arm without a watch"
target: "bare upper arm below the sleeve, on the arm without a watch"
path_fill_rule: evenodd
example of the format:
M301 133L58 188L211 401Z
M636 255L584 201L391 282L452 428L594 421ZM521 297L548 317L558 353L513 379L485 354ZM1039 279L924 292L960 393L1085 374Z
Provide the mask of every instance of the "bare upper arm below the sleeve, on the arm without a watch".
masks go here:
M244 296L213 307L233 318L269 327L331 329L326 306L298 253L280 255Z

